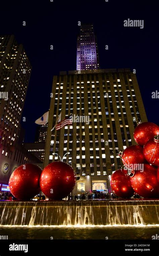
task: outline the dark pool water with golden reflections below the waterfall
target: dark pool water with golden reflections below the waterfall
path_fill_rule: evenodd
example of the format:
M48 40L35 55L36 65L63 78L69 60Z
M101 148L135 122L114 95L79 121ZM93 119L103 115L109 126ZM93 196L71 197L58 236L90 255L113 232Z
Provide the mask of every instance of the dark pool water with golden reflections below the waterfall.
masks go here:
M6 227L0 226L0 235L8 239L152 239L159 233L159 225L141 227Z

